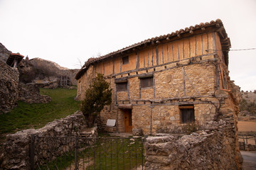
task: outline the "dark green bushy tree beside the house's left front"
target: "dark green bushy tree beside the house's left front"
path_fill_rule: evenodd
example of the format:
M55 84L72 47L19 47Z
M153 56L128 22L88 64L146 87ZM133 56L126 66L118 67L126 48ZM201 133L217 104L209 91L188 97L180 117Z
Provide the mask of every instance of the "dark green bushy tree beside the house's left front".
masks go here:
M110 89L110 83L105 81L103 74L97 74L89 88L85 91L85 99L82 101L80 108L89 128L94 125L97 115L104 106L111 103L112 89Z

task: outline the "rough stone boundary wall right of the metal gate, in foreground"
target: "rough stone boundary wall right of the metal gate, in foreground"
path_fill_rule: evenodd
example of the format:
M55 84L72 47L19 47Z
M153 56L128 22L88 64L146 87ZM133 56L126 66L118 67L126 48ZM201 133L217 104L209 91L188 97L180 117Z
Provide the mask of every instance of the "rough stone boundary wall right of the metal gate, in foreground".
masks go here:
M208 123L204 129L180 138L146 138L146 169L240 169L242 156L235 152L230 145L234 139L227 135L232 127L220 120Z

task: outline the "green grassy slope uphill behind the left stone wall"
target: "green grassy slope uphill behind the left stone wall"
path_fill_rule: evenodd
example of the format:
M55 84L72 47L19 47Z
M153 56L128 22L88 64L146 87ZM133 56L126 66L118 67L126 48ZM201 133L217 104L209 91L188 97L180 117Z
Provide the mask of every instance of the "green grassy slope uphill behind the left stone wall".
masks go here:
M13 133L28 128L42 128L47 123L64 118L79 110L75 101L76 89L40 89L41 94L51 97L49 103L24 103L11 112L0 115L0 133Z

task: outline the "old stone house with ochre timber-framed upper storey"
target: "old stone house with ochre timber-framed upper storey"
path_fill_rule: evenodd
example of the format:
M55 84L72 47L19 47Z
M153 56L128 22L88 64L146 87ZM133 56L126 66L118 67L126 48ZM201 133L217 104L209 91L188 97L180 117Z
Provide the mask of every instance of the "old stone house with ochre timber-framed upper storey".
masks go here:
M96 73L105 75L112 104L100 113L100 124L110 132L179 132L182 124L194 120L203 124L220 119L221 104L234 108L226 114L235 116L230 46L218 19L90 58L75 77L77 98L84 98ZM116 120L114 127L106 125L108 119Z

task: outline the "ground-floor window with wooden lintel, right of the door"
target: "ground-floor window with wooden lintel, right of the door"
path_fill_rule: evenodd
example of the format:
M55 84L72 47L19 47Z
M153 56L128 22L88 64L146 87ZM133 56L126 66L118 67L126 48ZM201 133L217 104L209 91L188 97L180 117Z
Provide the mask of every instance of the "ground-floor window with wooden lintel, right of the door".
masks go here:
M195 121L195 111L193 105L179 106L181 110L181 123L191 123Z

